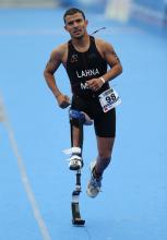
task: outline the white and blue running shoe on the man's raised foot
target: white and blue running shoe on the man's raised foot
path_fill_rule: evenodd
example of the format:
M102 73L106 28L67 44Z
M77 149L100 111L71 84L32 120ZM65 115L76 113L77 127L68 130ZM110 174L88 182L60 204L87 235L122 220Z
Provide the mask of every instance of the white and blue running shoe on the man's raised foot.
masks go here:
M102 188L102 177L95 178L94 176L94 169L95 169L96 161L91 163L91 180L87 184L86 193L91 197L97 196L97 194L100 192Z

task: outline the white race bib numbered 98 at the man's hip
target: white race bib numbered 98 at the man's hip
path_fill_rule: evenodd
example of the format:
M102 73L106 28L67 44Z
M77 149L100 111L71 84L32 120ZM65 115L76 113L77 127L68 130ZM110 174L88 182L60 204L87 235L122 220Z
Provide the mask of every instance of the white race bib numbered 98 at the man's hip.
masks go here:
M107 112L121 104L121 99L114 88L105 91L98 96L98 98L104 112Z

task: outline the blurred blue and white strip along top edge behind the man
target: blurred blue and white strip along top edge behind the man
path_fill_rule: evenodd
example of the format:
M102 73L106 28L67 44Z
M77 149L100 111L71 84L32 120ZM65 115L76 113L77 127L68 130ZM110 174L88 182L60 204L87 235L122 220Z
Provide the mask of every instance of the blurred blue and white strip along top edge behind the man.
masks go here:
M98 12L110 20L141 24L165 32L167 27L166 0L0 0L0 8L77 7Z

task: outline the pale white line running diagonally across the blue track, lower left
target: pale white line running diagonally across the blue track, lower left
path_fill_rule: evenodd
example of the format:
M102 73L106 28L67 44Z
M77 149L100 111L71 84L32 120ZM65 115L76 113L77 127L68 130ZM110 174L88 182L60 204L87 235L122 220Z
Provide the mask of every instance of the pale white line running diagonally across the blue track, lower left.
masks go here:
M4 127L7 129L12 151L14 153L14 156L15 156L16 160L17 160L19 170L20 170L20 173L21 173L21 179L22 179L25 192L27 194L28 201L31 203L31 206L32 206L32 209L33 209L33 213L34 213L34 217L35 217L35 219L38 224L41 237L43 237L44 240L51 240L51 238L49 236L49 232L48 232L48 229L47 229L47 227L45 225L45 221L41 217L41 214L39 212L37 202L35 200L35 195L32 191L32 188L31 188L31 184L29 184L29 181L28 181L28 177L27 177L27 173L26 173L26 168L24 166L23 158L21 157L21 154L19 152L19 147L17 147L17 144L16 144L16 141L15 141L15 137L14 137L14 133L13 133L12 127L10 124L10 121L7 117L5 109L4 109L4 104L2 101L1 96L0 96L0 122L4 123Z

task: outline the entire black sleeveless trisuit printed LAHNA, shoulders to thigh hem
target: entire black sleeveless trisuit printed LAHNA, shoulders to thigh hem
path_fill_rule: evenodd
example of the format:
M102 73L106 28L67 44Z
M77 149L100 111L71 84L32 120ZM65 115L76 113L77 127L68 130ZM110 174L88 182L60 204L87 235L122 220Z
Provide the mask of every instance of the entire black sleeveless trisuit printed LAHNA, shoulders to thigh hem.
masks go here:
M72 89L71 108L86 112L93 120L97 136L115 137L116 110L103 112L98 95L109 88L105 83L97 92L86 86L86 81L103 76L107 72L107 62L96 48L95 38L90 36L90 48L85 52L77 51L72 41L68 43L67 73Z

